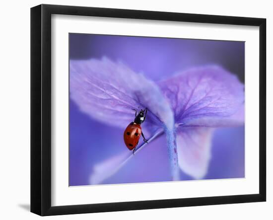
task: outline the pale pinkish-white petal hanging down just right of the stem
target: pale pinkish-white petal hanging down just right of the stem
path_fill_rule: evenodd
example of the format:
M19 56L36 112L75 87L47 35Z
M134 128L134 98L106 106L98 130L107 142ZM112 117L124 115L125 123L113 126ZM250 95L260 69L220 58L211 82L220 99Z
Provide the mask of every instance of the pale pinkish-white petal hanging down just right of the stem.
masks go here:
M202 179L210 160L213 128L180 128L177 132L178 164L183 172Z

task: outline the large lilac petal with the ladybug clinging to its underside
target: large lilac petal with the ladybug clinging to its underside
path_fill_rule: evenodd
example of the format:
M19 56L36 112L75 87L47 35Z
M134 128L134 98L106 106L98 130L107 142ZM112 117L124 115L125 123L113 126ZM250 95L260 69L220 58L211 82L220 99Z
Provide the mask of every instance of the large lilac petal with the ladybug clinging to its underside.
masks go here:
M121 62L70 60L70 97L80 110L103 123L126 128L132 108L148 108L147 124L172 128L173 112L159 87Z

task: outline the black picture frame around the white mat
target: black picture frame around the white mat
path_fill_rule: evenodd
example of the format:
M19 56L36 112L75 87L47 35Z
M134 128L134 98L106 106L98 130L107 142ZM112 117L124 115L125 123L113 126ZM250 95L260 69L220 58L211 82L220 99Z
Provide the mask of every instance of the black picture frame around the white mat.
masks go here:
M260 31L259 194L104 204L51 205L51 15L85 15L258 26ZM31 8L31 212L41 216L266 201L266 19L41 4Z

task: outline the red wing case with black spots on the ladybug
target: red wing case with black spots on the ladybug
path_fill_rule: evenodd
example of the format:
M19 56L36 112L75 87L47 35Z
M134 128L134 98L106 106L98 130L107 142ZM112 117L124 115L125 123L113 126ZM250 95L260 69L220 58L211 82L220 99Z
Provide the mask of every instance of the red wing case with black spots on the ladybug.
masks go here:
M141 135L141 127L138 124L130 123L124 131L124 143L128 149L134 149Z

